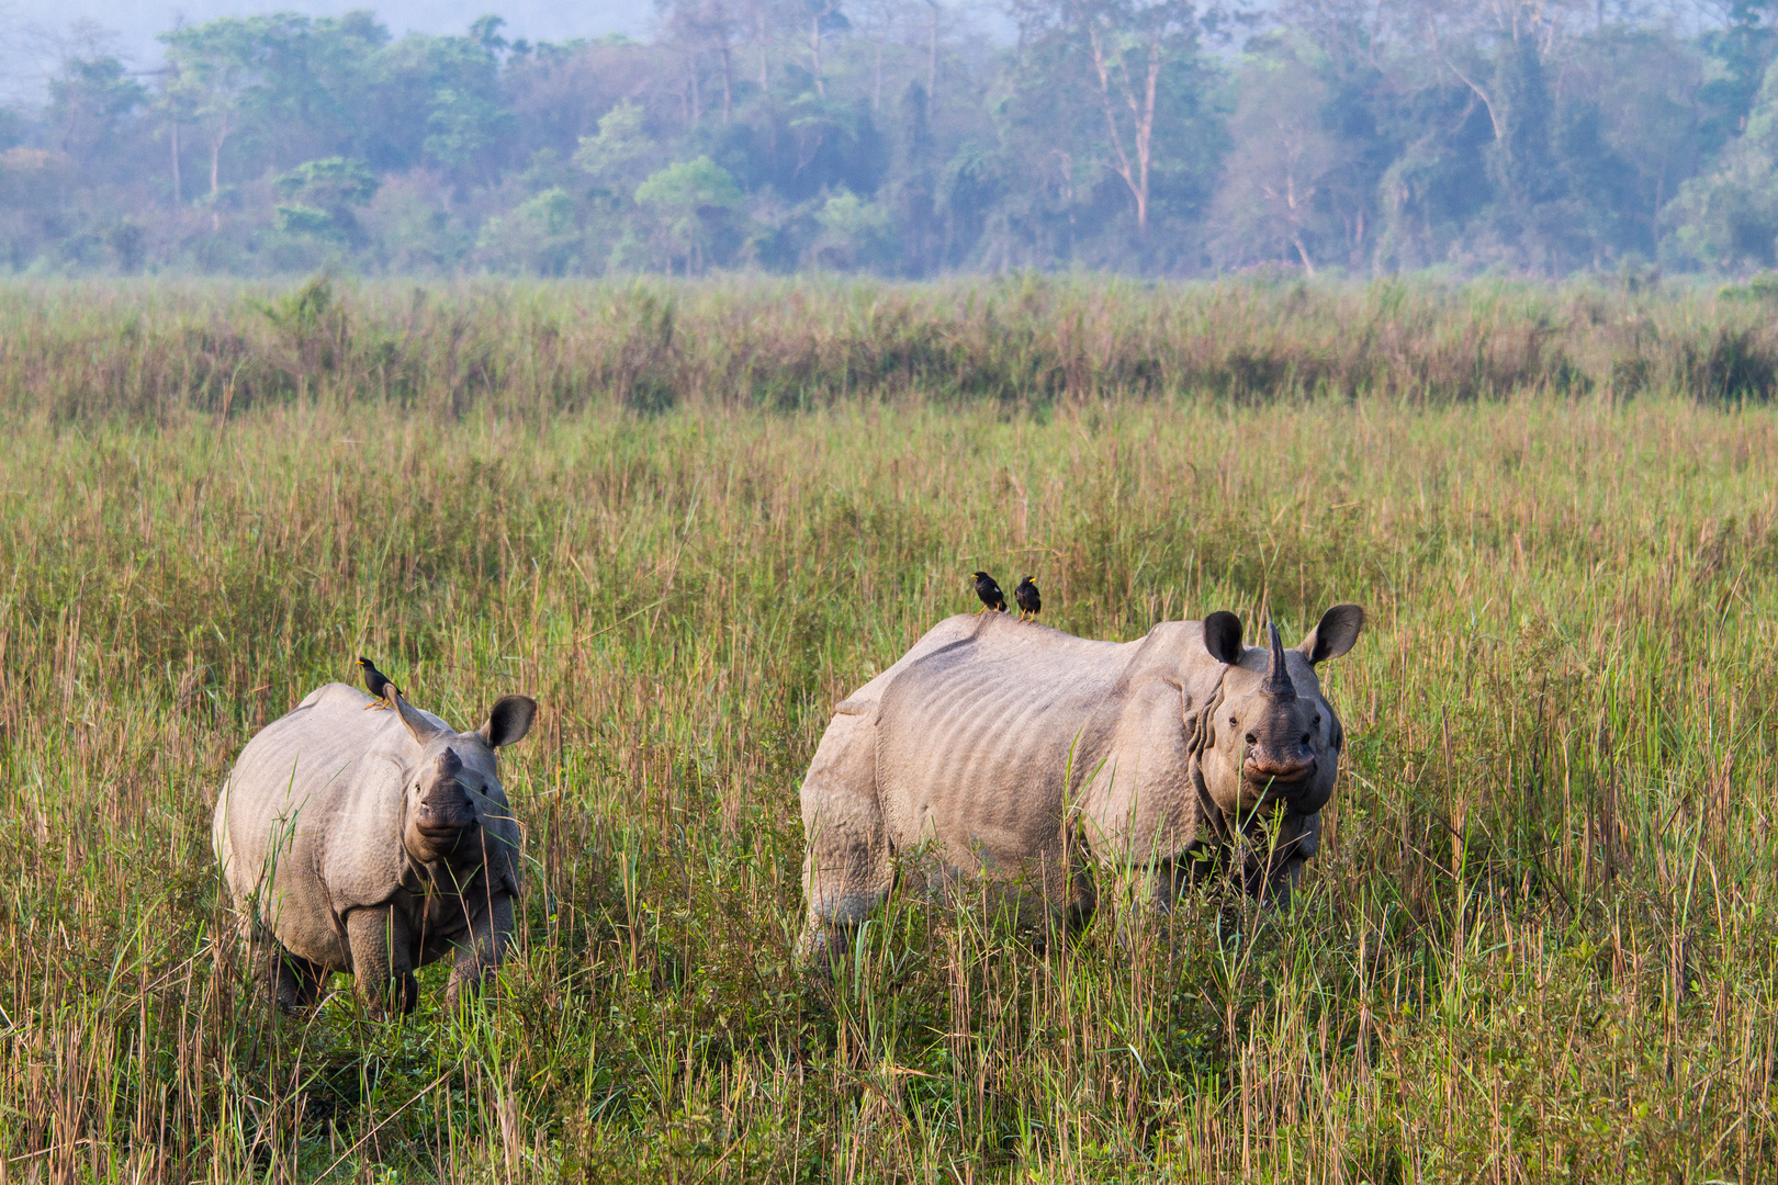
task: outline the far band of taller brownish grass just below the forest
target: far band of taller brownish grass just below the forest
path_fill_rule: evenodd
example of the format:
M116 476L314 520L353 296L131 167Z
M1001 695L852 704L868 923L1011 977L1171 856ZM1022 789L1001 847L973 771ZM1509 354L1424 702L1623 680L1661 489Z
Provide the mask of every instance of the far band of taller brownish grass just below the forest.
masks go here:
M1515 391L1764 402L1778 387L1773 306L1757 298L1764 288L1725 293L1038 275L925 286L9 284L0 405L78 421L311 398L532 419L857 396L1017 407L1179 394L1449 403Z

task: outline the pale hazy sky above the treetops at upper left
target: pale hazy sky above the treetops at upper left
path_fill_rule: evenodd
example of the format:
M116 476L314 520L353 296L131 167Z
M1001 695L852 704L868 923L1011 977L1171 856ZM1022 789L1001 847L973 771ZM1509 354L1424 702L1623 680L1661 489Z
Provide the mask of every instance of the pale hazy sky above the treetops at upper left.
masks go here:
M57 43L78 36L82 25L116 34L116 50L132 66L160 57L155 34L178 23L254 12L338 16L372 9L396 37L407 30L461 34L475 18L507 18L507 37L564 41L608 32L642 36L654 16L653 0L0 0L0 41L11 50L0 59L0 91L41 89L44 66L53 66Z

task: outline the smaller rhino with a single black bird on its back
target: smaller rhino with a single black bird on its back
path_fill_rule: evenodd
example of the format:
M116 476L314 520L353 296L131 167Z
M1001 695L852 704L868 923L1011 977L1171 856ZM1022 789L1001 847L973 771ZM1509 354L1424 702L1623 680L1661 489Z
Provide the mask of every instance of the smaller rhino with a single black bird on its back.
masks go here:
M379 702L356 688L311 691L247 743L217 798L217 860L283 1007L352 972L368 1006L405 1013L414 968L446 954L455 1004L512 934L519 830L494 752L530 730L535 700L509 695L457 732L388 695L393 711L366 711Z

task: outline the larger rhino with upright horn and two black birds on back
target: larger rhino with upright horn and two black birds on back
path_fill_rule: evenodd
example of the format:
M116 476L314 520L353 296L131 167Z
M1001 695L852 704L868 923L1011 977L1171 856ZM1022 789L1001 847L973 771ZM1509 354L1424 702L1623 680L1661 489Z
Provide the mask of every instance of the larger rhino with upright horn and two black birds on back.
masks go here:
M1088 641L999 613L935 625L834 712L802 782L809 908L800 952L837 950L896 856L1040 885L1093 906L1090 863L1136 869L1166 908L1243 840L1248 892L1282 899L1319 839L1344 744L1316 666L1364 609L1339 604L1285 650L1232 613ZM1269 826L1268 826L1269 824Z

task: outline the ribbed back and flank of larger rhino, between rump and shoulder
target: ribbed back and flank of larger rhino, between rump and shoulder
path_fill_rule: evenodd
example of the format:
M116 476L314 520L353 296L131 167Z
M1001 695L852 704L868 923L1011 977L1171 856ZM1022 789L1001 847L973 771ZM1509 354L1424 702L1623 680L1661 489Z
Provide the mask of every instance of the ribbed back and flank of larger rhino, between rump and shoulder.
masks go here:
M1104 705L1141 643L978 620L882 693L877 778L891 844L937 839L962 867L1060 856L1067 787L1090 776Z

